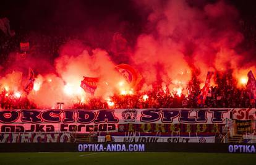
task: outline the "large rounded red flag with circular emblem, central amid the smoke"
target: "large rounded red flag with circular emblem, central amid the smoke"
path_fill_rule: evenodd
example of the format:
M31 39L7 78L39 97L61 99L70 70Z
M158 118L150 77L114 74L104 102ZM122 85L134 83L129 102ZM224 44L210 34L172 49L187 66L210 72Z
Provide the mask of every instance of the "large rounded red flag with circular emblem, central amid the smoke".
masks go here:
M131 87L136 87L142 80L142 76L139 72L128 64L117 65L116 70L126 79Z

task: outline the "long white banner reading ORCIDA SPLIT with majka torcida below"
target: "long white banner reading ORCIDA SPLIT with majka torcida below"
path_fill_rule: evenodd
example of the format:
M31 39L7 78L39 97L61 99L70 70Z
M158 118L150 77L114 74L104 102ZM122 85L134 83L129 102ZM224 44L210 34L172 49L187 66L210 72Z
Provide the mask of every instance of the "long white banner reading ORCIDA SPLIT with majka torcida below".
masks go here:
M225 124L230 114L229 108L3 109L0 132L116 132L124 124Z

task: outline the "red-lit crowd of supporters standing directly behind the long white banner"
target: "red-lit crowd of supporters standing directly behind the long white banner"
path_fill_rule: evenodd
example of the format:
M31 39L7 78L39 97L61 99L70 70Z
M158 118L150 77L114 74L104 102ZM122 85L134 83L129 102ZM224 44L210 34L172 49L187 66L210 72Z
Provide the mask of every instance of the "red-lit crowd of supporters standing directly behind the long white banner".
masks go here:
M198 91L190 91L190 95L177 95L162 90L160 87L144 93L133 95L114 95L109 99L90 98L85 103L74 103L69 108L85 109L123 109L123 108L255 108L245 87L234 85L210 87L204 104L198 104ZM220 85L220 84L219 84ZM147 97L145 97L147 96ZM1 109L32 109L40 108L31 103L25 95L15 96L2 90L0 93Z

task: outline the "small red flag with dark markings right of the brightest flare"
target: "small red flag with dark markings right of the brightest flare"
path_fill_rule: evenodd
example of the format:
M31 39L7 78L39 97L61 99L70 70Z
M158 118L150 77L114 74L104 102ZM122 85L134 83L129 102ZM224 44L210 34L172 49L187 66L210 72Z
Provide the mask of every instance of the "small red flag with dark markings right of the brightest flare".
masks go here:
M99 78L97 77L83 77L80 87L82 87L85 92L94 95L95 90L98 86L98 81Z

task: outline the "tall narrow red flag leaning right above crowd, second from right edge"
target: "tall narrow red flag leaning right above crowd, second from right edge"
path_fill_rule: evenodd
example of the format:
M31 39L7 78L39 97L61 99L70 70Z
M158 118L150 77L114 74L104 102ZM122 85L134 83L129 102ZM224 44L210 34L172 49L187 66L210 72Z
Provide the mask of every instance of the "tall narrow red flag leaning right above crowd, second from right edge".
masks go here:
M205 80L205 86L202 88L200 95L197 97L197 103L198 104L205 104L205 99L208 95L209 87L210 87L210 80L211 76L213 75L213 72L207 73L207 78Z

